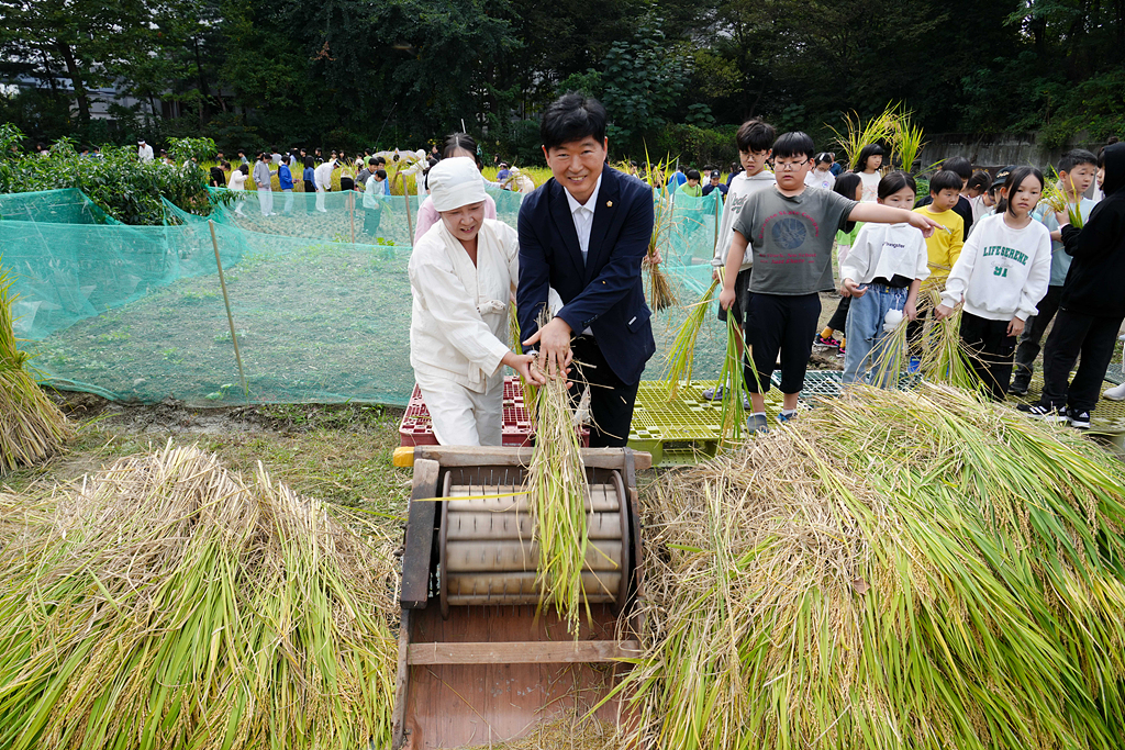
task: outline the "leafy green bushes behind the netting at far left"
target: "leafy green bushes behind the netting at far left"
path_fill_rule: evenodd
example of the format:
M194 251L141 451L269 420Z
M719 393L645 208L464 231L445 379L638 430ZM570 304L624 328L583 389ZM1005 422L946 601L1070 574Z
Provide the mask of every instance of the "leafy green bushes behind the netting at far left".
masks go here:
M0 125L0 146L22 138L11 125ZM184 139L181 147L215 153L209 138ZM55 143L48 156L0 151L0 192L29 192L78 188L99 208L125 224L164 223L161 197L184 210L206 213L207 175L195 162L170 166L137 162L136 148L107 146L101 159L84 159L66 139Z

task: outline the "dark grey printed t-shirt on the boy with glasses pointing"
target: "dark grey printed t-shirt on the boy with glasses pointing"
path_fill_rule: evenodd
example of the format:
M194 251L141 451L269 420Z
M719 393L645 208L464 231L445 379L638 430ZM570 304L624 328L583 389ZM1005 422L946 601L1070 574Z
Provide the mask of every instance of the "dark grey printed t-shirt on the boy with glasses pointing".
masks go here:
M834 289L832 240L857 205L830 190L807 189L790 198L774 188L750 196L735 219L735 231L754 253L750 291L792 296Z

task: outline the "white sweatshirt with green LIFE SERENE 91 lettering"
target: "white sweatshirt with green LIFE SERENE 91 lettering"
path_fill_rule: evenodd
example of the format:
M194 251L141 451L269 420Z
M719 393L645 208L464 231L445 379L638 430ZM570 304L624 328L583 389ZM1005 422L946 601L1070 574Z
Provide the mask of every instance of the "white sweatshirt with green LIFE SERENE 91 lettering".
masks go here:
M1038 311L1051 279L1051 233L1034 219L1015 229L1005 216L974 225L945 282L944 305L964 299L966 313L989 320L1026 320Z

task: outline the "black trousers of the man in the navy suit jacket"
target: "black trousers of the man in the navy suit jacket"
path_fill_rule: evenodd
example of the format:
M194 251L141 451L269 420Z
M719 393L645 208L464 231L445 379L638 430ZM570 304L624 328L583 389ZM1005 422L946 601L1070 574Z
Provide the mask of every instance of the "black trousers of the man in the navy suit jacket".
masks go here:
M576 336L570 342L574 365L570 371L570 396L577 403L590 385L591 448L624 448L629 443L633 404L639 382L627 386L602 355L593 336Z

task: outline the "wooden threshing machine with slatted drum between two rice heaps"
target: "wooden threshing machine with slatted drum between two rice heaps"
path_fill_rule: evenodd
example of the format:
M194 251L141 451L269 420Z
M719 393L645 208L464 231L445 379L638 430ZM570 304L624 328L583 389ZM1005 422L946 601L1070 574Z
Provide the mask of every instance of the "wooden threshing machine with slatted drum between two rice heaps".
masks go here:
M649 468L651 458L629 449L584 449L583 458L596 551L583 576L592 616L583 618L576 640L554 612L538 607L538 550L528 498L518 494L531 449L413 449L396 749L503 742L559 712L585 713L628 668L618 660L637 654L636 472ZM488 495L500 497L480 497ZM596 715L616 721L616 702Z

